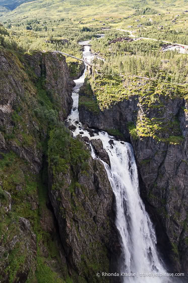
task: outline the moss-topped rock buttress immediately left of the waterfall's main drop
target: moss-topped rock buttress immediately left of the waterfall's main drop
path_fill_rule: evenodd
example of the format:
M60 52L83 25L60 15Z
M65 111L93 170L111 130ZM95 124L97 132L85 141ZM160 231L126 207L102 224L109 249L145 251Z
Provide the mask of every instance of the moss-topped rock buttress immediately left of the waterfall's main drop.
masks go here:
M57 138L61 143L54 147ZM48 156L49 195L70 272L80 274L79 282L109 282L96 277L99 270L109 270L110 258L113 261L120 252L104 166L91 158L81 137L71 141L65 129L52 132Z

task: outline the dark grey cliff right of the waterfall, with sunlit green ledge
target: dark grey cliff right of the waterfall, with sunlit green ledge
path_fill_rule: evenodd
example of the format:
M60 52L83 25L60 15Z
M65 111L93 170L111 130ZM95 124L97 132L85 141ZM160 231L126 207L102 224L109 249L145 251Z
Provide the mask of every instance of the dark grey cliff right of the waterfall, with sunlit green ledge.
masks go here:
M80 95L81 102L83 97L88 97L84 88ZM93 103L95 97L90 100ZM186 101L170 93L156 95L151 105L148 105L148 96L138 95L104 111L92 111L88 105L79 103L83 123L107 130L132 144L141 196L156 227L159 250L169 268L187 272Z

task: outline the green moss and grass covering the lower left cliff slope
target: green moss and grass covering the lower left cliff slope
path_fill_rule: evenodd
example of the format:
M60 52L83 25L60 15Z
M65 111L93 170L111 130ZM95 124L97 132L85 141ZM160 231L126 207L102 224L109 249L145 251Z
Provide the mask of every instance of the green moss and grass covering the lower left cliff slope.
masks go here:
M43 174L36 175L30 171L30 164L22 160L15 153L4 154L4 159L1 160L0 176L2 180L2 187L9 192L12 197L11 211L7 212L4 207L9 206L9 195L0 189L1 210L0 210L0 238L3 239L3 246L9 245L14 241L15 235L19 242L16 243L14 249L4 255L4 262L8 266L5 270L9 274L10 283L15 281L17 271L23 269L26 257L31 257L31 268L35 264L35 246L31 245L31 237L28 231L22 236L19 229L19 218L24 217L30 221L31 230L36 234L37 239L37 270L36 282L61 282L59 273L56 273L51 265L51 262L59 261L57 237L54 235L53 240L48 232L41 228L41 217L48 213L46 203L48 202L48 187L44 185L47 175L43 170ZM37 205L38 203L38 205ZM2 218L3 217L3 218ZM41 247L45 246L48 251L48 258L42 256ZM30 250L28 250L28 248ZM52 261L51 261L52 260ZM59 263L58 263L59 264ZM49 267L50 266L50 267ZM53 271L54 270L54 271ZM32 277L33 278L33 277ZM28 279L28 283L35 282L34 278ZM57 279L58 278L58 279Z

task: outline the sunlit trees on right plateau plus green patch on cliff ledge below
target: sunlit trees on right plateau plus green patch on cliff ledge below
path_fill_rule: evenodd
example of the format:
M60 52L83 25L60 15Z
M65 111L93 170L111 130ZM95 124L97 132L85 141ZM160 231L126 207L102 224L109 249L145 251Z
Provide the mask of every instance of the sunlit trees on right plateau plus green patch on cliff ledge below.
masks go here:
M92 48L105 58L93 61L90 84L100 109L108 109L134 97L152 118L139 115L128 125L133 139L151 136L158 141L180 144L183 141L176 117L165 119L164 105L169 100L187 99L187 55L176 51L161 52L161 42L152 40L117 41L122 32L107 31ZM129 39L129 38L128 38Z

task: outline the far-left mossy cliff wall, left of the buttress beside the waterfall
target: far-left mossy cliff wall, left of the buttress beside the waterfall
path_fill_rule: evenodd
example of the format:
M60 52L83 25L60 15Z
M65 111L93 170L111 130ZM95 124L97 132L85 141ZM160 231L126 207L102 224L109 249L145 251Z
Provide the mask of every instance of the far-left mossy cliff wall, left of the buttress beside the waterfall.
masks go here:
M59 70L55 78L54 69ZM1 50L0 72L0 278L25 282L39 278L43 269L52 277L55 270L45 263L59 241L46 206L45 140L48 123L55 119L56 99L64 109L58 112L59 120L70 112L74 82L65 58L50 53L19 59Z

